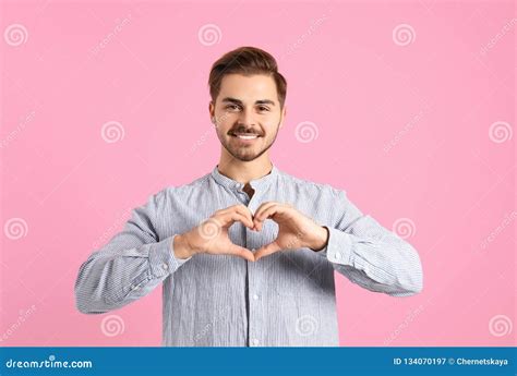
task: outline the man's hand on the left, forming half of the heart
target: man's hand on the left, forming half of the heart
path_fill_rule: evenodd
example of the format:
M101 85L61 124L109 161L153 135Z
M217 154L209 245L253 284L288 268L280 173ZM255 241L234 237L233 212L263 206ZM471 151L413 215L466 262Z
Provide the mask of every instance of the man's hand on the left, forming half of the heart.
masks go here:
M228 236L228 229L237 221L255 230L250 209L244 205L233 205L217 210L200 226L177 235L173 244L175 255L178 258L188 258L197 253L227 254L254 262L255 257L250 250L233 244Z

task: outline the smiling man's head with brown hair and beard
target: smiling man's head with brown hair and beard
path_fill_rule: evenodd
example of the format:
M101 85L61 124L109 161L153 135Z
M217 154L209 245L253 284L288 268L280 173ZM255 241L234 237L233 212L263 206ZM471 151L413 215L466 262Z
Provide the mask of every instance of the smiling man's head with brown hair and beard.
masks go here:
M209 112L224 148L251 161L266 153L286 116L287 82L273 56L254 47L227 52L208 78Z

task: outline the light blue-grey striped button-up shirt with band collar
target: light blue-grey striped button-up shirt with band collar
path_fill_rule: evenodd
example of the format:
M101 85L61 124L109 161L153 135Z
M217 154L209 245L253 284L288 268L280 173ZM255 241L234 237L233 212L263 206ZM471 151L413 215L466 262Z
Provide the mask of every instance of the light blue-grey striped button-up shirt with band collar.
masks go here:
M363 215L345 191L292 177L273 166L250 185L211 173L168 186L132 210L123 230L81 265L77 310L100 314L123 307L163 283L163 345L339 345L334 270L374 292L393 296L422 290L417 251ZM280 251L256 263L231 255L175 257L173 238L216 210L236 204L251 213L264 202L290 204L329 230L325 248ZM273 220L261 232L241 222L230 240L251 251L278 233Z

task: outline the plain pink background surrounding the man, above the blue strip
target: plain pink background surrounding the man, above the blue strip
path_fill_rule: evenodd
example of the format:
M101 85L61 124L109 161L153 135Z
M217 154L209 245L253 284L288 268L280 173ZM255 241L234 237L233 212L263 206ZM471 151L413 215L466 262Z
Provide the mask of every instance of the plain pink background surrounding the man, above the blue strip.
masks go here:
M347 191L423 263L411 298L337 275L341 344L515 344L513 2L41 0L0 13L2 345L160 345L161 288L83 315L74 281L128 210L217 163L206 81L243 45L272 52L289 83L277 167Z

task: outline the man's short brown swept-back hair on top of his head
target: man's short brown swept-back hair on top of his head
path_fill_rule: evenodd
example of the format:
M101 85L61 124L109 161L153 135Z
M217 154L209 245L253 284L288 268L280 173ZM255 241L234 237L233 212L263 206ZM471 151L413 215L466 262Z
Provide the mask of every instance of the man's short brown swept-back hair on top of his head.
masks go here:
M220 83L226 74L239 73L243 75L266 74L275 80L276 90L280 109L284 108L287 94L287 81L278 73L278 65L275 58L256 47L239 47L226 52L219 58L211 70L208 86L212 101L215 104L220 90Z

